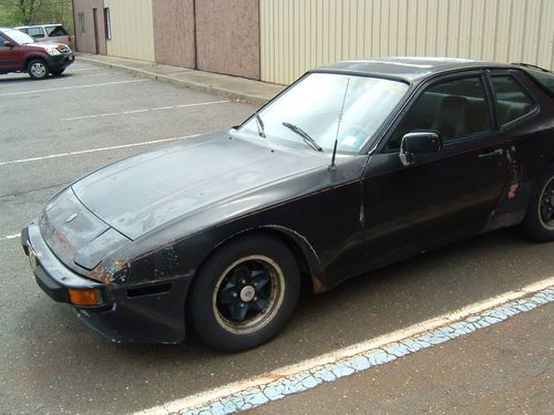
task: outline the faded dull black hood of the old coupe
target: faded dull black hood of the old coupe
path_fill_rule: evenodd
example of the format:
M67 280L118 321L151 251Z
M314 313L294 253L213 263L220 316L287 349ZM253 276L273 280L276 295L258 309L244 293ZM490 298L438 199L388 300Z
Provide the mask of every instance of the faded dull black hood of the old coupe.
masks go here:
M271 149L263 139L223 132L115 163L72 189L95 217L134 240L179 217L328 163L325 154Z

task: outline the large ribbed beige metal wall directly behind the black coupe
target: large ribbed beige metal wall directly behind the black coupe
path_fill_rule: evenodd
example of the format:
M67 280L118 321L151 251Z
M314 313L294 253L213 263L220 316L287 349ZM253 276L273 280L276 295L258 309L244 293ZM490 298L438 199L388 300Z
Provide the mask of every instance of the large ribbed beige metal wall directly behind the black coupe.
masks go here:
M260 0L260 77L321 64L455 56L554 69L554 0Z

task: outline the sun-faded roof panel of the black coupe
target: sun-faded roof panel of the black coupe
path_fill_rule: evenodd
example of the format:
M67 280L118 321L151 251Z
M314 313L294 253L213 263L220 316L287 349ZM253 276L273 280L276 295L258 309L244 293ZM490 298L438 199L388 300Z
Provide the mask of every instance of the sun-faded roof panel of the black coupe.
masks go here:
M493 63L455 58L376 58L368 60L343 61L319 66L310 72L349 73L390 77L408 83L422 81L429 76L452 71L472 69L515 69L505 63Z

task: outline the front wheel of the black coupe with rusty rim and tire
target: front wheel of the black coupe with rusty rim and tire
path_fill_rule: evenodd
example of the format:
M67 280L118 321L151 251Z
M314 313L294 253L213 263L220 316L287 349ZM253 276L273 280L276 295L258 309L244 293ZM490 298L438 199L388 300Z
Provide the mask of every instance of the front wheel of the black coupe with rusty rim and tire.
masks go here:
M216 251L196 276L188 318L205 344L243 351L277 335L299 292L298 264L284 243L240 237Z

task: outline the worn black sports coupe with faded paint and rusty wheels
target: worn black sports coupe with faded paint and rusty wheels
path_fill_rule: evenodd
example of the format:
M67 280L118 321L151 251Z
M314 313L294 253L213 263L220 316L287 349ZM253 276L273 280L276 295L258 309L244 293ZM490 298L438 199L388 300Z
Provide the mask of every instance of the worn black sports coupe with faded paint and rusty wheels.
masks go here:
M521 225L554 239L554 75L454 59L309 71L229 131L101 168L21 238L39 286L113 341L226 351L331 289Z

